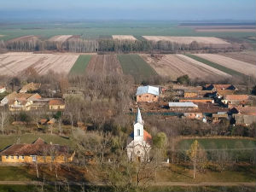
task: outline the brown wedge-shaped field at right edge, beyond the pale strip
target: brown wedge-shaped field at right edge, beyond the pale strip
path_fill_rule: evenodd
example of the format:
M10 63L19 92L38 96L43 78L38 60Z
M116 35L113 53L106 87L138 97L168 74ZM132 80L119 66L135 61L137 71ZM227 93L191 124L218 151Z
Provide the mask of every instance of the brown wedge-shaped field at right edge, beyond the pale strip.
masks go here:
M256 51L218 53L235 60L244 61L256 65Z

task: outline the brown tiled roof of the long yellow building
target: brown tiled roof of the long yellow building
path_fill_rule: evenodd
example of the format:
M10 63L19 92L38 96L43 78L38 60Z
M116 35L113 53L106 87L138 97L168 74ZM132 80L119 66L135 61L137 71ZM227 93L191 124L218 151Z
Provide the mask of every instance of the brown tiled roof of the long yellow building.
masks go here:
M57 144L47 144L44 140L38 139L32 144L13 144L1 152L1 155L50 155L67 154L67 146Z

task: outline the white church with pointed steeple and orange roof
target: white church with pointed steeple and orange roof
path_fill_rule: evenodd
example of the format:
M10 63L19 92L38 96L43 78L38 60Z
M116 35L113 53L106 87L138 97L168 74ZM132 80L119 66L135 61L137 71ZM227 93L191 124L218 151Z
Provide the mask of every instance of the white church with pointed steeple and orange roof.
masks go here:
M137 109L137 118L133 125L133 132L128 138L127 155L129 160L146 161L151 149L152 137L143 129L144 121L140 109Z

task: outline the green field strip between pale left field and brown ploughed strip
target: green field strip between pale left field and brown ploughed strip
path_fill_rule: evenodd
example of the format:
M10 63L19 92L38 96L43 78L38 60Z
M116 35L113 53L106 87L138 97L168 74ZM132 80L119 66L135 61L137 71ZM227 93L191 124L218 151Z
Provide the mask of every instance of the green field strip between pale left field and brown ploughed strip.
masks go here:
M84 74L85 68L90 61L91 55L79 55L78 60L74 63L71 68L69 75L81 75Z

